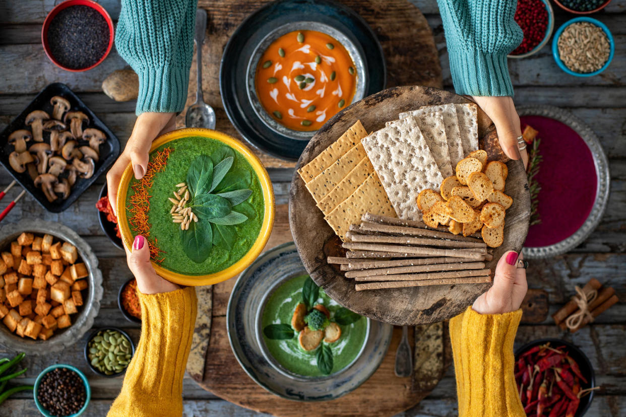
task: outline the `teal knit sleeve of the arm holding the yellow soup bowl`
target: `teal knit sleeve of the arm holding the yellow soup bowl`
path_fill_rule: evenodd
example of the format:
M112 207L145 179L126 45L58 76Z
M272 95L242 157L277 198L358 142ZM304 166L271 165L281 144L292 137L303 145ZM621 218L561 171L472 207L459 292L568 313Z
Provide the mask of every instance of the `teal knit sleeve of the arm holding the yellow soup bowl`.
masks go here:
M197 0L122 0L115 34L139 76L136 113L178 112L187 101Z

